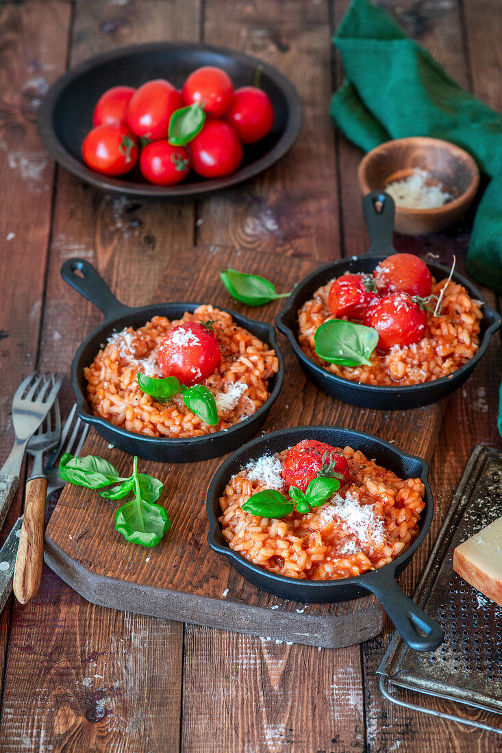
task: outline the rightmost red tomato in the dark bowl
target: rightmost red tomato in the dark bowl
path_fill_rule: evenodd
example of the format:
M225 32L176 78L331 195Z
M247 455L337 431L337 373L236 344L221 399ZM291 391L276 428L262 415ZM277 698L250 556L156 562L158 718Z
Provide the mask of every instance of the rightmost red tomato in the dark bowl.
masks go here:
M270 133L274 108L262 89L242 87L235 90L225 120L234 127L243 144L254 144Z

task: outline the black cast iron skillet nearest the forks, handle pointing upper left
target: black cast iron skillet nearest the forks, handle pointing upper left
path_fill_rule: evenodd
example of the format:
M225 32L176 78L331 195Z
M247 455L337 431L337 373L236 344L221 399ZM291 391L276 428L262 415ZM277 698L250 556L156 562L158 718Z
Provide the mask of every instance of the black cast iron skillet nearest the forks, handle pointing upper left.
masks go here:
M79 276L80 273L81 276ZM194 311L200 303L154 303L151 306L131 308L120 303L106 282L99 276L94 267L83 259L69 259L61 267L61 276L72 288L75 288L84 298L90 300L105 315L105 321L84 340L75 354L72 362L72 387L77 398L77 412L84 421L92 424L99 434L111 442L115 447L138 455L148 460L165 462L194 462L216 458L225 453L230 453L235 447L240 446L259 431L270 413L274 401L279 395L284 378L284 362L280 349L275 339L274 328L265 322L255 322L246 316L237 314L230 309L234 322L246 328L252 334L268 343L274 349L279 361L279 370L268 381L270 397L253 416L240 421L224 431L216 431L214 434L205 434L203 437L184 437L171 439L167 437L146 437L142 434L134 434L113 425L106 419L94 416L86 397L86 382L84 379L84 367L89 366L97 352L106 343L110 335L120 332L124 327L138 328L152 319L152 316L167 316L167 319L181 319L186 311Z

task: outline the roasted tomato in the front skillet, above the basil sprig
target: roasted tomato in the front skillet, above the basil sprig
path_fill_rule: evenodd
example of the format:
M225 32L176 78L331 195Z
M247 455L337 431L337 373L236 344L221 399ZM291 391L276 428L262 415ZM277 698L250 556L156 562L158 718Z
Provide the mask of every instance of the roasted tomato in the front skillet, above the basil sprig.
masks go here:
M305 492L308 484L320 471L323 471L325 476L329 475L330 471L339 473L344 477L345 483L351 478L347 459L340 450L316 439L304 439L295 444L283 462L283 479L286 484L288 487L298 486L302 492Z

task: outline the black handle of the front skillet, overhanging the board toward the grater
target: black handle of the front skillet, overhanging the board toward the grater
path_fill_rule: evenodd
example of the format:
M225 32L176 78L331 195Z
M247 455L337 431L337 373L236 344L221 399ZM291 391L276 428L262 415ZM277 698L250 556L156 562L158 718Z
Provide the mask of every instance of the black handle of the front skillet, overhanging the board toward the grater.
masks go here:
M399 588L394 570L382 569L365 573L364 585L378 597L397 632L415 651L434 651L442 644L445 634L406 593Z

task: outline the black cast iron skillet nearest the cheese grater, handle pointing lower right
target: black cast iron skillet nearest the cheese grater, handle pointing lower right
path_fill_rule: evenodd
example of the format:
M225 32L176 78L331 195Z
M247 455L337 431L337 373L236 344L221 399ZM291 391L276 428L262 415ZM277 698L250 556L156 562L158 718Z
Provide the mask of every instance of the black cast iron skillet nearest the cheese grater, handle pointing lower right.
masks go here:
M228 546L219 523L219 517L222 515L219 498L224 494L225 486L231 476L249 460L257 460L262 455L281 452L303 439L317 439L334 447L347 447L348 445L354 450L361 450L366 457L375 459L378 465L393 471L400 478L418 477L421 479L425 486L425 508L421 514L418 536L405 553L393 562L389 562L388 565L355 578L343 578L339 581L305 581L276 575L258 565L253 565ZM403 450L398 450L392 444L373 437L371 434L363 434L362 431L339 426L297 426L273 431L263 437L256 437L245 447L241 447L216 471L207 492L207 517L210 522L207 541L213 550L227 557L231 565L246 580L283 599L293 599L307 604L326 604L357 599L359 596L366 596L368 592L374 593L396 626L396 630L410 648L415 648L417 651L433 651L442 642L444 637L442 630L399 589L395 580L396 576L408 566L430 529L433 518L433 496L427 481L428 475L429 466L424 460L403 453Z

